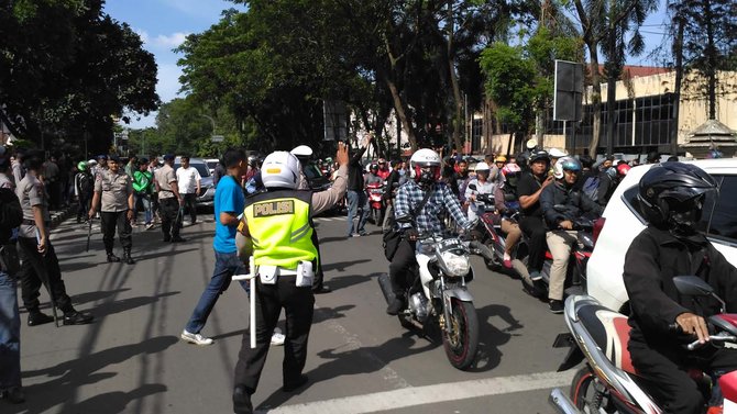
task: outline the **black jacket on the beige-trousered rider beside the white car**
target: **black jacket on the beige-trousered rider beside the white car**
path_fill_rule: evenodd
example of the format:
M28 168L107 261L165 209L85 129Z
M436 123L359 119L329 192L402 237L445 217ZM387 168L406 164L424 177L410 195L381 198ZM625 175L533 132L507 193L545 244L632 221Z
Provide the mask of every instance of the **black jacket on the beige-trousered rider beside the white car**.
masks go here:
M565 210L556 210L556 205L565 205ZM569 188L560 181L542 189L540 208L549 230L558 230L561 222L580 219L586 213L602 214L602 206L588 195L576 190L575 186Z

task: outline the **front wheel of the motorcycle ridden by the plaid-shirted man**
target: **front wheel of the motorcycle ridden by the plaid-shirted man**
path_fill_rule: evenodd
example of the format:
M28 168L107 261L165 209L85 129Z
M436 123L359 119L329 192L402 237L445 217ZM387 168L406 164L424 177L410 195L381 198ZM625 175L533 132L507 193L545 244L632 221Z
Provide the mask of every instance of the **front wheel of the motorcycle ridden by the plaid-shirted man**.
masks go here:
M442 344L450 363L464 370L473 363L479 347L479 316L473 303L451 298L450 332L442 329Z

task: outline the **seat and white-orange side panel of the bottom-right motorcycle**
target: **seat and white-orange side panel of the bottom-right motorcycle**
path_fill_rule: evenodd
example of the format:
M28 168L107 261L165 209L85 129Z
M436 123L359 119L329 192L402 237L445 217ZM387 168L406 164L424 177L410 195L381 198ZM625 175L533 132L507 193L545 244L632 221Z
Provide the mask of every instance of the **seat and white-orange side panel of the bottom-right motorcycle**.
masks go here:
M627 349L630 331L627 316L598 304L581 307L578 315L606 358L623 371L637 376Z

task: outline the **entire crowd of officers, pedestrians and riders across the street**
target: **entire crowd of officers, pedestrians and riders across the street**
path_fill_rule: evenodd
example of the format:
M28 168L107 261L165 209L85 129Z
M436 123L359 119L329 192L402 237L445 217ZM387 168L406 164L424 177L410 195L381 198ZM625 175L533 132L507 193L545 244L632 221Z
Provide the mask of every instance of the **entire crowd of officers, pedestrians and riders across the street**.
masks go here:
M428 283L433 280L428 267L431 258L416 249L420 234L443 234L452 228L473 237L480 214L477 203L486 195L486 200L493 200L491 203L498 213L499 228L506 235L508 248L504 253L503 266L512 267L513 247L525 237L528 244L527 271L529 278L536 281L541 278L546 251L549 251L552 266L547 301L552 313L562 313L568 260L572 245L576 243L574 222L580 216L601 215L614 189L637 164L636 160L612 156L594 161L588 156L571 156L562 149L544 150L536 146L514 156L491 154L483 159L462 157L455 152L443 157L442 150L422 148L408 160L378 158L365 163L364 156L372 143L373 137L366 135L352 152L348 144L339 143L334 160L318 160L320 174L331 181L329 188L320 191L310 191L306 169L312 165L314 154L304 145L292 152L272 153L263 159L248 157L244 150L231 148L223 154L216 168L215 268L180 337L196 345L212 344L213 339L204 336L201 331L219 295L228 289L234 276L249 273L250 264L255 267L256 275L251 276L256 277L256 291L252 292L249 284L241 281L245 294L257 303L256 346L251 347L251 338L248 333L244 334L234 369L232 398L235 413L253 412L251 395L257 388L271 345L286 345L284 390L294 391L308 382L302 370L314 294L330 292L323 283L319 237L312 224L316 214L344 202L348 215L345 236L366 236L370 210L366 188L376 183L383 186L384 220L374 224L381 226L384 233L392 231L402 235L396 249L387 255L394 299L388 303L386 313L396 315L407 300L403 294L406 291L404 283L407 282L405 272L410 266L419 267L421 286L429 295ZM97 217L100 220L107 261L134 265L132 226L140 223L139 206L143 210L145 230L160 224L163 242L185 242L180 234L183 216L188 210L190 223L197 223L196 200L201 193L201 178L190 166L188 156L180 157L182 166L176 170L175 156L170 154L163 156L162 165L157 159L131 157L123 163L116 155L99 156L79 161L73 167L74 175L64 180L62 177L65 175L55 158L46 159L42 152L11 156L2 148L0 153L0 311L3 320L10 321L0 329L0 347L6 350L0 353L0 395L20 403L24 395L20 380L16 280L21 283L29 326L54 321L86 324L94 320L90 313L77 311L66 292L48 238L50 209L76 199L78 223L91 225ZM659 154L648 154L647 163L660 163ZM692 246L698 242L703 248L703 243L707 242L694 242L693 214L703 206L704 192L715 189L716 184L704 178L703 171L681 167L676 159L669 159L663 165L669 163L673 163L673 167L666 169L675 171L674 175L698 177L705 182L702 186L704 191L683 190L683 197L675 197L658 188L662 199L652 203L658 206L654 210L660 215L651 226L658 226L659 231L675 237L678 243ZM662 172L663 169L653 170ZM661 181L658 182L662 184ZM648 197L642 198L646 204ZM672 208L669 210L662 205ZM123 249L122 258L114 253L116 234ZM658 234L658 237L667 236ZM642 251L638 253L638 260L658 259L654 254L644 258ZM730 265L725 265L718 253L713 249L708 253L713 256L711 260L723 266L726 272L737 272ZM642 280L632 279L632 275L641 273L641 269L632 266L630 262L625 269L625 282L628 290L630 286L632 288L630 294L641 298L656 294L662 302L661 306L670 312L661 312L663 320L703 339L702 316L695 315L683 302L673 306L671 302L679 299L671 298L669 290L663 292L658 284L662 283L661 280L647 284L642 282L645 276L640 278ZM689 272L688 269L683 271ZM652 276L648 278L652 279ZM38 309L42 286L48 291L54 316ZM732 287L725 289L734 291ZM639 302L635 304L632 326L652 329L645 315L647 310L637 307L640 305ZM276 331L283 309L286 335ZM57 310L62 313L61 317L57 317ZM679 377L669 365L671 362L658 359L671 358L672 355L658 354L660 348L651 346L648 335L651 335L649 331L638 337L638 346L642 348L637 363L645 363L646 357L654 359L658 366L644 367L644 370L653 376L666 372L671 378ZM721 354L717 362L732 369L732 354ZM684 387L681 379L678 383L661 382ZM693 401L669 400L668 395L662 395L662 399L672 401L672 404L692 404L690 406L693 407Z

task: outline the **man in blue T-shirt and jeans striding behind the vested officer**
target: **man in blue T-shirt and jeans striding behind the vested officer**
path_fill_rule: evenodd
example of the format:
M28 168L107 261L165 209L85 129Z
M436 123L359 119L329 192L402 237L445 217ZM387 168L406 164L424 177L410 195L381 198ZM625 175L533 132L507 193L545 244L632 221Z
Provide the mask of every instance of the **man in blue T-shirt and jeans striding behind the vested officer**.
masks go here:
M235 232L240 223L238 216L245 206L245 195L240 186L241 176L246 171L245 152L228 149L222 156L227 175L220 179L215 191L215 269L207 288L200 295L189 322L182 332L182 339L196 345L210 345L212 339L200 334L218 298L230 286L233 275L245 275L248 269L238 258Z

